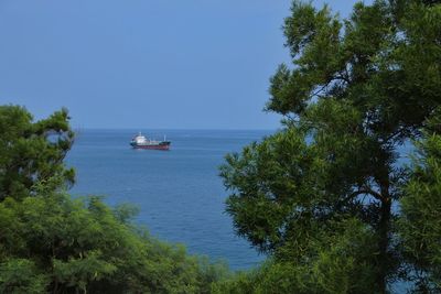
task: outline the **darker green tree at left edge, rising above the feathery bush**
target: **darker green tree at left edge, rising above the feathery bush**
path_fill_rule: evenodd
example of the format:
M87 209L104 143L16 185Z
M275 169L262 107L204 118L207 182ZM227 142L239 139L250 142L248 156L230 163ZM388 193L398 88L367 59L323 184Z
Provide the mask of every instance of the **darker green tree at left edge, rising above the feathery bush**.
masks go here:
M23 107L0 106L0 202L29 196L50 178L61 181L52 181L54 188L74 183L74 170L63 163L74 141L68 120L66 109L34 122Z

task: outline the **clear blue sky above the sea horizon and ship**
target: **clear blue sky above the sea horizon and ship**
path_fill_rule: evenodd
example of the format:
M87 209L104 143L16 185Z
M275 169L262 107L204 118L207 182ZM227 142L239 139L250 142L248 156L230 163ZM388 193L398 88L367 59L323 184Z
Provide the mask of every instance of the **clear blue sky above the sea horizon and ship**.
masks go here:
M76 128L277 128L262 108L290 2L0 0L0 104L67 107Z

